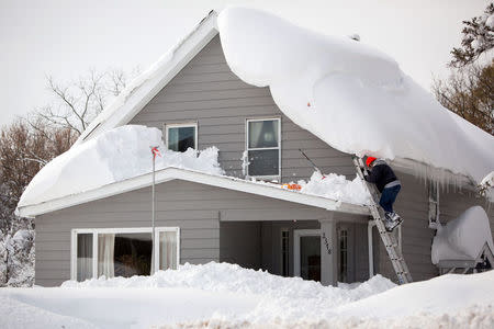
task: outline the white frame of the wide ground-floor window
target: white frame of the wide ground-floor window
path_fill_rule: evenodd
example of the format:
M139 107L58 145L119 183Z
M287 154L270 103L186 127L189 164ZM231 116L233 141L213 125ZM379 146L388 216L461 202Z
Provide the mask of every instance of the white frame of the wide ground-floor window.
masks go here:
M162 231L175 231L177 234L177 264L180 264L180 227L160 226L155 227L155 239L153 250L158 254L154 257L154 268L159 269L159 234ZM70 231L70 280L77 281L77 235L92 234L92 277L98 279L98 235L99 234L151 234L151 227L120 227L120 228L72 228Z

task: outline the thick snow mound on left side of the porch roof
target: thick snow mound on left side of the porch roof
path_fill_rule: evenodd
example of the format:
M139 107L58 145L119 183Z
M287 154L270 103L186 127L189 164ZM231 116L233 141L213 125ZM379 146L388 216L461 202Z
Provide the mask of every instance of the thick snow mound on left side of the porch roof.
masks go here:
M150 146L159 146L156 170L187 168L223 174L217 148L175 152L165 148L161 131L138 125L121 126L71 147L33 178L18 206L37 204L80 193L151 171Z

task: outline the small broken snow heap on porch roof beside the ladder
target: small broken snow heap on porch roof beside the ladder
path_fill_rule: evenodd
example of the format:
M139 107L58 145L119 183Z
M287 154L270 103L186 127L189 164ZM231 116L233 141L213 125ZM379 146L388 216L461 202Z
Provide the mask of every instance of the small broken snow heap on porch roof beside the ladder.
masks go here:
M370 204L371 196L361 179L356 177L348 181L345 175L329 173L323 175L314 171L308 182L300 181L302 193L315 194L324 197L348 202L352 204Z

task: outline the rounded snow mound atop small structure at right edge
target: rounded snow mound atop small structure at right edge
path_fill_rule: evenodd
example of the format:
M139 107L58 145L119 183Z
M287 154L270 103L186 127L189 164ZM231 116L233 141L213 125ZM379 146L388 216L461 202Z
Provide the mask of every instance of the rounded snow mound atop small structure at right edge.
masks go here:
M487 214L481 206L470 207L458 218L438 227L433 241L433 263L474 260L485 243L494 251Z

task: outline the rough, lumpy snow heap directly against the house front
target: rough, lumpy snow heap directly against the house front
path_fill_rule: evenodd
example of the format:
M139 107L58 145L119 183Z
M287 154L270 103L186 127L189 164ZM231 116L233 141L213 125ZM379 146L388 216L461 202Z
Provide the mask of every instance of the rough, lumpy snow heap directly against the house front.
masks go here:
M186 263L176 271L158 271L151 276L91 279L85 282L66 281L61 287L187 287L216 293L255 294L270 298L310 298L340 305L358 300L389 288L395 284L375 275L369 281L356 285L322 286L315 281L301 277L283 277L265 271L244 269L237 264L210 262L193 265ZM327 305L327 304L326 304Z

